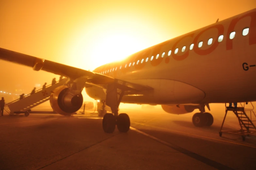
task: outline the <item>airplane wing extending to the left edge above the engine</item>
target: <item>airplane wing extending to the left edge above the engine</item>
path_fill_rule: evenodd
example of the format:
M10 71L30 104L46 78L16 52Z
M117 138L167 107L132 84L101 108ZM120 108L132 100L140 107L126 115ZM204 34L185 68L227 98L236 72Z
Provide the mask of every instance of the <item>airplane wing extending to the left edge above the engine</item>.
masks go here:
M34 56L22 54L22 53L17 53L14 51L3 49L3 48L0 48L0 59L9 61L12 63L17 63L24 66L32 67L33 70L36 70L36 71L44 70L57 75L69 77L71 79L86 77L87 85L91 84L91 85L97 85L97 86L106 88L108 84L116 82L117 85L125 91L135 92L135 91L152 89L151 87L147 87L144 85L139 85L135 83L118 80L103 74L99 74L99 73L95 73L95 72L91 72L83 69L78 69L75 67L67 66L67 65L56 63L49 60L44 60L41 58L37 58Z

